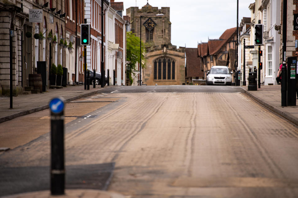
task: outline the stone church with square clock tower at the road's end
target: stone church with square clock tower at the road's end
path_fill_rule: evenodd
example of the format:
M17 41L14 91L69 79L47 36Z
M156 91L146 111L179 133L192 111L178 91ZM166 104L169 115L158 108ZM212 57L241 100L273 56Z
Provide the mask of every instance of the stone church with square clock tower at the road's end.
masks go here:
M142 41L145 43L145 63L142 63L144 67L141 70L142 84L185 83L185 47L177 49L171 44L170 8L158 9L147 2L141 9L129 7L126 9L126 14L131 19L132 32L138 37L142 34ZM141 16L142 27L140 27ZM134 82L139 81L139 73L136 78Z

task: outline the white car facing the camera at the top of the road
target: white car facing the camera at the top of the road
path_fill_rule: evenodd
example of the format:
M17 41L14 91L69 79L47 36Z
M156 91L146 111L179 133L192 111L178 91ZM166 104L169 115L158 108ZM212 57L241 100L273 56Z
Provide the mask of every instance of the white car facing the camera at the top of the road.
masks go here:
M206 85L232 85L232 74L227 66L213 66L207 72Z

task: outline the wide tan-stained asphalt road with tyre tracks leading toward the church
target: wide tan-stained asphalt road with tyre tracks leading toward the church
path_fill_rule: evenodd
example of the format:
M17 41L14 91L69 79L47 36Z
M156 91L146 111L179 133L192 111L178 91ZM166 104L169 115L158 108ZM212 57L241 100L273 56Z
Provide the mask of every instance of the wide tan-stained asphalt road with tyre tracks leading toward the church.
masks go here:
M0 177L15 189L17 169L50 164L48 115L0 124L15 130L1 132L1 144L20 137L0 154L2 170L15 168ZM240 88L110 87L68 103L65 116L66 165L115 163L109 191L131 198L298 197L298 127ZM14 124L22 120L27 125ZM35 138L30 123L38 121Z

